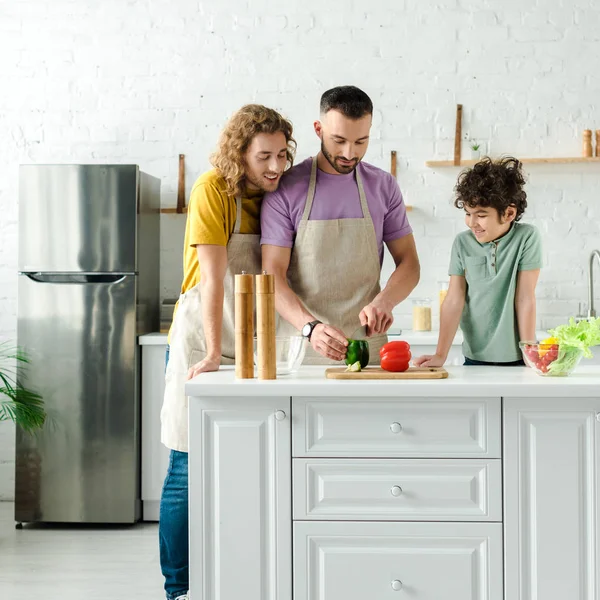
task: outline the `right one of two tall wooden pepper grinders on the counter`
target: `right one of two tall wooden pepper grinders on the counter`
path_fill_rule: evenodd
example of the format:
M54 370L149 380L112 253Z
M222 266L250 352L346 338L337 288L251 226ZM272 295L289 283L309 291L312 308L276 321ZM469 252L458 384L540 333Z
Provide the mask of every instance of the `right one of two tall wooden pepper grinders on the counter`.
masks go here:
M256 276L256 337L259 379L277 379L275 358L275 277Z

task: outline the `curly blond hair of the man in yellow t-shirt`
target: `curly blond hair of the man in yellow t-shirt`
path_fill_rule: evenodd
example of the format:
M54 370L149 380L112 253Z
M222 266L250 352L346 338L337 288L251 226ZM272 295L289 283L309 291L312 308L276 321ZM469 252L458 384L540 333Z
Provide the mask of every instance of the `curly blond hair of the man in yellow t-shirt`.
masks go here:
M254 136L279 131L285 135L287 142L286 169L289 169L296 154L296 140L292 137L293 127L290 121L276 110L261 104L246 104L229 119L221 132L217 149L210 157L212 166L225 179L228 194L238 196L244 191L244 154Z

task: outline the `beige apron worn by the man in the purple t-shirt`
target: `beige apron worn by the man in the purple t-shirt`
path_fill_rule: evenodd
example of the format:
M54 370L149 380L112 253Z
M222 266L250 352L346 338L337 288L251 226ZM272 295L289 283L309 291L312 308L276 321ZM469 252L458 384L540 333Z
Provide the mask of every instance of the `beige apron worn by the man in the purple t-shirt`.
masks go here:
M377 236L358 168L356 183L362 218L309 220L317 184L317 159L313 158L304 213L292 249L288 281L306 309L316 319L341 329L346 336L360 327L360 311L380 291ZM340 198L339 202L344 202ZM280 335L298 334L280 320ZM379 349L386 335L369 338L371 364L379 363ZM303 364L339 364L324 358L308 346Z

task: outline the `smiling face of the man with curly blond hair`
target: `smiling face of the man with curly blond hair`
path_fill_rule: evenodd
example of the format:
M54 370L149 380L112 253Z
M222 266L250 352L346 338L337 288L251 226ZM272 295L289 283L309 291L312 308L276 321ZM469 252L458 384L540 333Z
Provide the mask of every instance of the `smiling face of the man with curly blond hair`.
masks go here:
M250 191L274 192L287 164L283 132L258 133L246 150L246 187Z

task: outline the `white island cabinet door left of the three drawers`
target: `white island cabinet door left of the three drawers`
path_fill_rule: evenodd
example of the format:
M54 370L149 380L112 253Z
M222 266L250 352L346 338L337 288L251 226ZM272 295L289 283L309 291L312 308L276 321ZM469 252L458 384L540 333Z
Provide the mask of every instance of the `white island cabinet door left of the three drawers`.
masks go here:
M190 398L190 595L291 598L290 398Z

